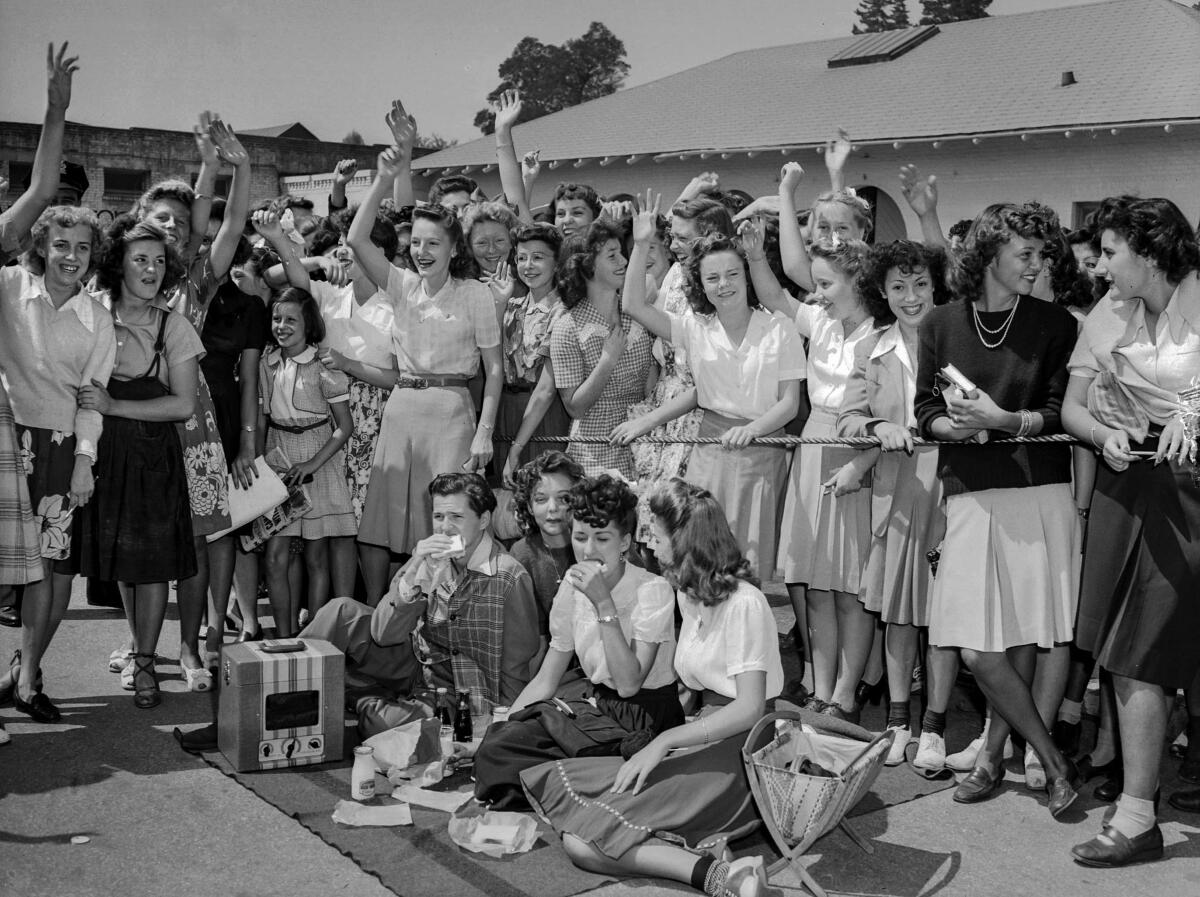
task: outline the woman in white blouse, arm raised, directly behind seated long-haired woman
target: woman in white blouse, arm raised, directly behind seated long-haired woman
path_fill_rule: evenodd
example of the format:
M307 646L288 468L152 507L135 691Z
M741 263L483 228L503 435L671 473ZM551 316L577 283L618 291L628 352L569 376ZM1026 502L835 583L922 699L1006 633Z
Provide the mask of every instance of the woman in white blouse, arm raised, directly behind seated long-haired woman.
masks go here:
M757 574L769 579L787 452L751 443L756 437L781 435L784 423L796 416L805 377L804 347L790 320L758 305L742 247L722 234L692 246L685 282L689 311L648 305L646 278L637 272L656 211L647 207L634 218L625 309L680 355L697 361L692 392L703 414L697 434L721 441L695 447L686 478L716 496L738 544ZM648 429L644 422L634 422L626 433L632 438Z

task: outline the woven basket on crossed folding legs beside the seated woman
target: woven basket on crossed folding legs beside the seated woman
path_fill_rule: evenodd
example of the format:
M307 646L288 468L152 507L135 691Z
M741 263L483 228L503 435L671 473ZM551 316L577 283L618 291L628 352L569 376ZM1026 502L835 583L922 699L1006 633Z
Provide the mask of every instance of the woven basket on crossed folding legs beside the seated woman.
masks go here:
M756 748L767 727L774 727L775 738ZM799 857L839 825L863 850L875 853L845 817L880 775L894 736L890 732L874 735L809 711L767 714L755 724L742 748L742 761L767 831L784 855L767 869L768 880L790 865L804 887L816 897L826 897ZM834 775L800 772L804 760Z

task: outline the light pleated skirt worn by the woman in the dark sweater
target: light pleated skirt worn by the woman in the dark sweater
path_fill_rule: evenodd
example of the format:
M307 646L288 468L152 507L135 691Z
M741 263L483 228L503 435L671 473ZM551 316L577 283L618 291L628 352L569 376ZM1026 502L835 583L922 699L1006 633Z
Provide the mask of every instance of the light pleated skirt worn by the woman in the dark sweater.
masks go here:
M1003 651L1070 642L1080 546L1067 483L950 495L930 644Z

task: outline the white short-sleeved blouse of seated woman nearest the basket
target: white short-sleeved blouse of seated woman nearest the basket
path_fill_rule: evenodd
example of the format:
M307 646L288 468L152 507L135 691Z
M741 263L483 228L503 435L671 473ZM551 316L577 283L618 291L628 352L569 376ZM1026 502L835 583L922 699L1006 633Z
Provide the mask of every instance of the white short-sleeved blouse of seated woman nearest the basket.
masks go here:
M676 672L689 688L737 697L733 678L762 670L767 698L784 690L779 656L779 628L767 597L750 583L738 583L728 598L715 606L679 595L683 627L676 650Z

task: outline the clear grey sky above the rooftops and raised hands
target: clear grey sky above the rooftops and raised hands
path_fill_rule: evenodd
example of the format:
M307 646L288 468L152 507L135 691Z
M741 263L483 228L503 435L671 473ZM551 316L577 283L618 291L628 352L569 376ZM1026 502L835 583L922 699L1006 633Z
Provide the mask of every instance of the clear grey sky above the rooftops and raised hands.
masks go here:
M995 0L992 16L1091 0ZM301 121L323 140L386 143L401 98L421 133L479 137L475 113L524 36L563 43L599 19L635 86L731 53L850 34L857 0L0 0L0 121L41 121L46 44L80 56L67 118L188 131ZM913 20L919 2L910 2Z

